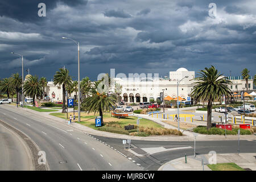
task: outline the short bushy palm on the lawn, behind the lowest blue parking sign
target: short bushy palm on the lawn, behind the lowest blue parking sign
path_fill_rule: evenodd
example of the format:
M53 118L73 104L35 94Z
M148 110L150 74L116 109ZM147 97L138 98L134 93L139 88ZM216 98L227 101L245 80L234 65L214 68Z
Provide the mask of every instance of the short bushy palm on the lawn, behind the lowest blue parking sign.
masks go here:
M103 121L103 111L109 111L110 107L116 106L117 96L115 94L107 94L105 92L98 92L99 82L94 82L90 88L88 88L88 97L82 100L81 107L86 112L91 113L99 112L101 116L102 125Z

